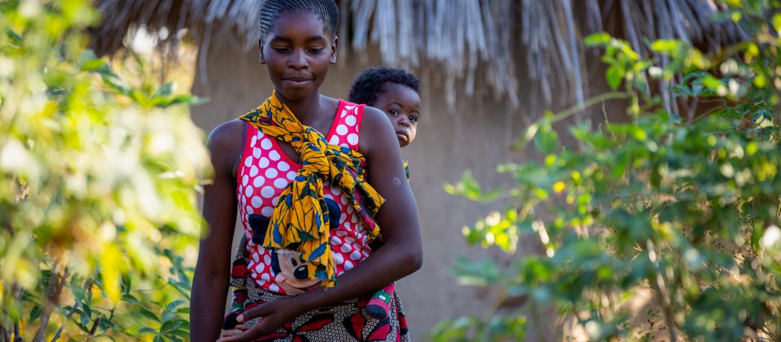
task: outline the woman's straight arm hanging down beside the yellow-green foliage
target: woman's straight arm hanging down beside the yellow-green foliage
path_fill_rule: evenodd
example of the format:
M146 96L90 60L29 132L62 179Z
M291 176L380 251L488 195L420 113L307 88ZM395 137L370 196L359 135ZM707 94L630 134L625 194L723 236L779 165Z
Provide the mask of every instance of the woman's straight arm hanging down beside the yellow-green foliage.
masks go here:
M239 121L219 125L209 136L214 181L204 186L201 233L190 299L190 339L212 342L219 338L230 276L230 247L236 224L235 165L241 155Z

